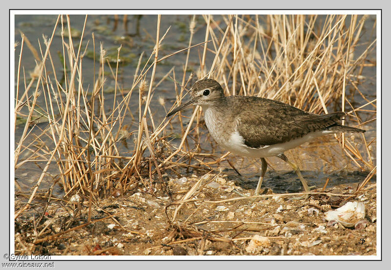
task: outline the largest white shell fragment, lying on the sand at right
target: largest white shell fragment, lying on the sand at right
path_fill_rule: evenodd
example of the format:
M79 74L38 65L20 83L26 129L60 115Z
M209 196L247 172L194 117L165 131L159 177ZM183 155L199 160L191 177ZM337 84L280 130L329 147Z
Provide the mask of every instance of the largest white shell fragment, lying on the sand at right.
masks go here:
M327 221L336 220L348 228L354 227L354 224L364 217L365 205L363 202L348 202L340 208L325 213Z

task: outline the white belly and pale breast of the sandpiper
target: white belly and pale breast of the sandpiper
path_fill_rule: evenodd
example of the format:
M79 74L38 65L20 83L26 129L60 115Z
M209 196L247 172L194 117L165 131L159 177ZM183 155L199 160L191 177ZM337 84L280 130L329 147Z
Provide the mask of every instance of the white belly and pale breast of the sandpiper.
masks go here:
M235 123L232 123L233 125L231 126L221 125L219 117L210 109L205 110L205 123L208 127L209 133L213 139L215 139L218 145L234 154L253 158L277 156L286 150L302 145L316 137L334 133L327 130L317 131L309 133L301 138L293 139L286 143L265 145L260 148L253 148L244 144L244 138L239 134Z

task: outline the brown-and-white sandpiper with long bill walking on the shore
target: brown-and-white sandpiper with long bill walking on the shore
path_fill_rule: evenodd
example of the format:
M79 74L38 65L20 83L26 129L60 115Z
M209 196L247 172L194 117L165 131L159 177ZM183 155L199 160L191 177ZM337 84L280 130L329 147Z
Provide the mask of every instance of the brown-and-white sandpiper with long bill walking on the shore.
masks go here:
M299 176L304 191L310 191L299 167L284 152L316 137L332 133L361 133L363 129L340 125L345 112L318 115L279 101L248 96L224 96L221 85L213 79L196 82L191 98L174 108L167 117L192 105L202 107L205 124L218 145L245 157L261 158L261 176L255 195L259 195L267 163L265 157L278 156ZM307 198L305 194L303 198Z

